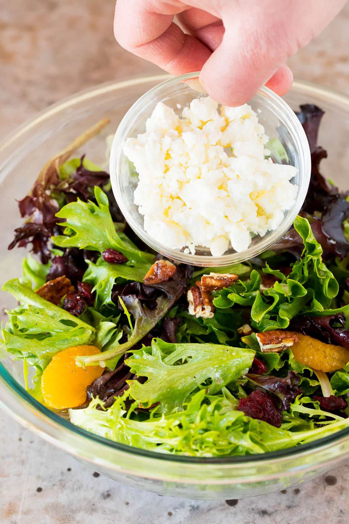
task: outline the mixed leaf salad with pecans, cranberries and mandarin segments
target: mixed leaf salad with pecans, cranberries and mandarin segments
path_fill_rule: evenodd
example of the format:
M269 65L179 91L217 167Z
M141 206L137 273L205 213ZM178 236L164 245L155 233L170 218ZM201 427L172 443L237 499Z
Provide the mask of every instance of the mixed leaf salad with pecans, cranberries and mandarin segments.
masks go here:
M108 173L74 156L107 119L50 159L8 246L35 256L3 286L18 302L3 348L29 393L159 453L265 453L349 427L349 199L320 172L322 115L298 113L312 174L294 226L229 267L178 265L133 234Z

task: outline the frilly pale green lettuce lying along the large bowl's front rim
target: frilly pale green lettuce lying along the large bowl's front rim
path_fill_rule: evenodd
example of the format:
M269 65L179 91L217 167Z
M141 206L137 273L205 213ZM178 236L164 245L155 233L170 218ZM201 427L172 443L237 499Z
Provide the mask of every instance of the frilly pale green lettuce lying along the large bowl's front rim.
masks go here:
M103 402L95 399L85 409L70 410L71 422L104 438L144 450L201 457L276 451L349 427L349 418L341 417L323 427L314 427L295 411L296 417L288 416L284 424L294 431L275 428L227 408L226 397L210 397L212 401L207 403L205 390L197 392L184 405L184 411L161 414L155 408L148 419L139 421L133 417L137 403L127 409L128 399L128 394L116 398L107 410L103 410ZM98 406L102 409L96 409Z

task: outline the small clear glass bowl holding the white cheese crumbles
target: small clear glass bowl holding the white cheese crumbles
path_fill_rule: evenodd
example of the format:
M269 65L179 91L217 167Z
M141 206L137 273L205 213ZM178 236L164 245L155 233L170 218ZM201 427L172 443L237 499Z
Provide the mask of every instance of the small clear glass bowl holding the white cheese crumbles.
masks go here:
M163 102L178 114L193 99L203 96L204 90L198 80L199 73L183 74L170 78L149 90L135 102L122 118L110 154L110 179L112 190L121 212L132 230L145 244L168 258L194 266L228 266L255 257L271 247L282 237L294 222L307 194L310 181L310 150L305 132L291 108L273 91L262 88L249 101L258 113L258 120L264 126L270 139L278 138L283 144L288 163L298 169L291 180L298 185L295 204L284 213L284 220L277 230L268 231L265 236L255 236L248 249L237 253L229 244L226 253L220 257L211 255L207 247L196 246L195 255L184 253L182 249L172 249L161 244L144 230L143 215L133 203L133 192L137 187L132 165L122 151L122 145L128 137L137 137L144 133L145 122L150 117L156 104ZM177 104L181 106L178 110Z

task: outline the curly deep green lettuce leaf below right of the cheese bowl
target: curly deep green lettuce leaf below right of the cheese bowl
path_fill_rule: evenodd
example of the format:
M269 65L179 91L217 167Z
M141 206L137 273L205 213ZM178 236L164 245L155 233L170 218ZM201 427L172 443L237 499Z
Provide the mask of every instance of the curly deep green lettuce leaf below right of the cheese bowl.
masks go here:
M234 304L251 307L252 326L258 331L286 329L297 314L333 314L333 299L339 286L332 272L322 261L322 247L316 241L307 219L298 216L295 229L302 237L302 256L286 277L267 264L263 271L281 279L271 288L260 292L261 276L251 271L250 281L238 281L229 289L216 292L216 308L231 308Z

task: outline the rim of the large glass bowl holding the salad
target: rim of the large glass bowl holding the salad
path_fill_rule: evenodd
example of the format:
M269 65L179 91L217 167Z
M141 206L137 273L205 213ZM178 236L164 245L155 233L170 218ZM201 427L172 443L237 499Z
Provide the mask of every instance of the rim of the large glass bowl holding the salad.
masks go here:
M66 97L65 99L49 106L48 108L41 111L35 117L28 118L26 122L18 126L13 130L12 133L9 133L5 136L0 143L0 154L7 148L11 148L13 143L18 140L21 135L24 135L27 131L40 124L41 122L46 121L48 118L53 116L60 111L75 106L78 103L84 102L88 99L93 99L94 97L108 92L115 92L117 90L127 88L128 86L133 86L137 84L147 83L147 82L157 82L163 81L168 78L171 78L169 74L157 74L157 75L144 75L143 77L131 78L130 80L125 80L122 82L107 82L88 88L81 91L80 93L74 94L72 96ZM347 106L349 111L349 96L346 96L344 93L336 92L334 90L323 88L312 82L305 81L295 81L294 87L296 90L302 90L305 94L309 95L318 95L323 96L327 100L332 101L332 103L340 103ZM5 161L6 163L6 161ZM0 171L1 171L0 166ZM322 439L314 440L308 444L303 444L301 446L289 447L284 450L278 450L274 452L268 452L260 455L247 455L247 456L235 456L235 457L190 457L183 455L171 455L171 454L162 454L152 451L146 451L139 449L137 447L128 446L125 444L119 444L117 442L110 441L108 439L102 438L98 435L95 435L91 432L78 428L73 425L70 421L67 421L60 417L57 413L52 412L50 409L44 407L40 402L31 397L31 395L23 388L17 380L7 371L7 369L0 362L0 392L2 394L8 393L9 402L3 400L3 395L0 396L0 408L8 413L12 418L20 422L22 425L26 425L31 431L34 431L42 438L49 440L51 443L54 443L58 447L66 449L66 447L74 446L64 446L61 444L61 440L57 436L53 435L52 428L57 424L58 429L62 432L65 430L69 435L77 435L80 443L83 445L85 439L92 441L97 444L97 446L103 446L105 448L110 448L115 451L120 451L126 453L130 456L139 456L147 457L153 460L160 460L164 462L173 462L173 463L186 463L186 464L196 464L197 466L206 467L208 465L219 465L220 467L224 466L241 466L242 464L253 465L255 463L266 463L266 462L279 462L282 459L289 459L290 457L296 458L297 456L307 454L307 452L321 452L324 449L331 447L333 444L340 444L341 442L346 442L349 439L349 428L334 432L333 434L326 436ZM21 416L19 403L17 397L20 397L21 400L25 402L26 412L30 410L33 413L33 416L36 417L36 424L28 420L28 418ZM17 408L17 409L16 409ZM39 424L39 420L41 424ZM52 424L53 422L53 424ZM41 427L40 427L41 425ZM42 429L43 425L43 429ZM70 449L69 452L79 455L79 449L75 446L75 452L73 449ZM97 449L96 449L97 451ZM97 454L95 456L97 458ZM95 461L94 461L95 462ZM110 464L111 465L111 464Z

